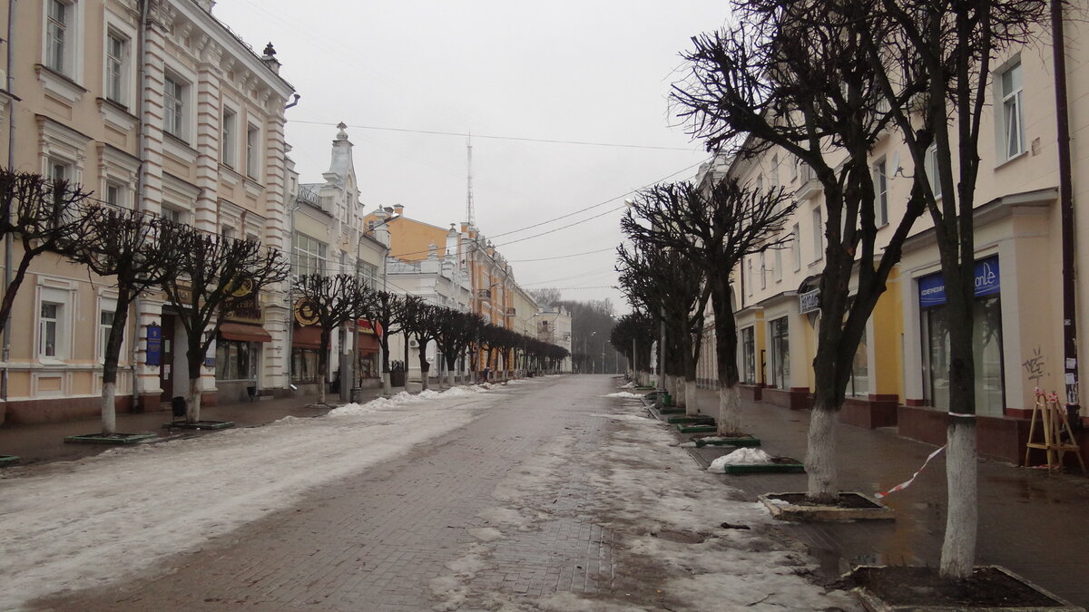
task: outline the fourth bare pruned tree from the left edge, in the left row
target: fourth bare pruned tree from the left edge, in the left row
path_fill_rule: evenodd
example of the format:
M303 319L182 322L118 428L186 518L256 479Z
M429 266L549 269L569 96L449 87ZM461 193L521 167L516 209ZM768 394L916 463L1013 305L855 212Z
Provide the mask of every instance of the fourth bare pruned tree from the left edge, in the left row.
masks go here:
M307 319L316 318L321 329L318 352L318 401L326 403L326 380L329 379L329 345L333 331L374 309L375 292L355 274L304 274L294 283L294 291L304 298L299 308L307 309Z

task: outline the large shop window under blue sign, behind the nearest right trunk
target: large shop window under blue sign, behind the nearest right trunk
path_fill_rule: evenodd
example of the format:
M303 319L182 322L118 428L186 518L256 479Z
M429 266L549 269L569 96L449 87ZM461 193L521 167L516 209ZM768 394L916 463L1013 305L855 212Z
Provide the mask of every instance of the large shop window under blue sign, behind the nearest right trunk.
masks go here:
M950 409L950 332L940 281L920 279L922 311L923 390L927 405ZM929 282L928 282L929 281ZM976 262L976 299L972 304L972 356L976 369L976 412L1005 413L1002 368L1002 301L999 295L998 258Z

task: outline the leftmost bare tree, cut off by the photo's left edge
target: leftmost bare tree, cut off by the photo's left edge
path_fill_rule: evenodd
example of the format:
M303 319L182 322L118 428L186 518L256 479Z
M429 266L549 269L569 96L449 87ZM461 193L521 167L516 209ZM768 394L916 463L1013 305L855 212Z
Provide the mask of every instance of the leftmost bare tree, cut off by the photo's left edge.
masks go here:
M13 235L22 247L15 273L0 302L0 321L5 333L15 295L26 279L30 261L44 253L69 255L83 240L88 195L68 181L0 169L0 236Z

